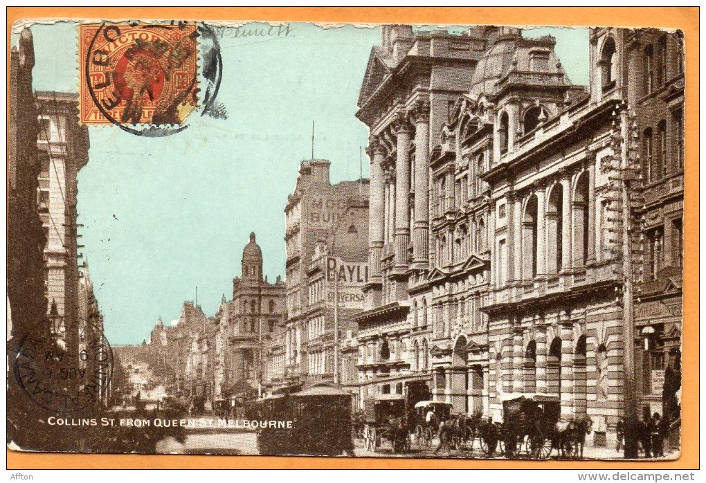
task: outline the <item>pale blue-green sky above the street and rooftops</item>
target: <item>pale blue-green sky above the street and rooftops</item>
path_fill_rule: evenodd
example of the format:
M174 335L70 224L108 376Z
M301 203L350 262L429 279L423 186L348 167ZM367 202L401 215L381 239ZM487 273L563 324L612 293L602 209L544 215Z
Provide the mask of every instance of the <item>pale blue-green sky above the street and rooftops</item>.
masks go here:
M35 25L32 33L35 90L76 91L76 25ZM585 84L587 30L525 31L547 33L557 37L571 80ZM377 28L301 23L265 42L224 37L218 99L228 119L192 116L189 129L166 138L90 127L78 222L112 344L141 342L158 316L177 318L196 285L199 303L213 315L221 294L232 294L252 231L269 280L284 275L283 209L299 162L311 156L312 119L315 156L332 161L332 181L359 177L367 129L354 114L378 40Z

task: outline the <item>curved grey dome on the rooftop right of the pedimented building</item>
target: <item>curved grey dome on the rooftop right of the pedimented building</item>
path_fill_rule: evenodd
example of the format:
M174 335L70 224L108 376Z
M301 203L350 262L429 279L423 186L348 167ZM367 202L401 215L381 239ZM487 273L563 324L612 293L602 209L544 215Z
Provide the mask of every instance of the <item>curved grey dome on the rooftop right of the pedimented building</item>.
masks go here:
M517 41L521 38L520 29L501 28L495 44L486 50L473 71L470 90L473 99L477 100L483 93L493 93L498 80L510 70Z

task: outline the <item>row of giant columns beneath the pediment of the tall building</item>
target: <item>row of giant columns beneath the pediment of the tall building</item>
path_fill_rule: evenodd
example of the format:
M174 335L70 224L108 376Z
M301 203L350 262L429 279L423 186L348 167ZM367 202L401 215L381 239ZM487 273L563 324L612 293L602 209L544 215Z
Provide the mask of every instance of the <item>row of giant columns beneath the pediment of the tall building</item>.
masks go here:
M396 135L394 166L390 164L390 168L394 169L394 177L385 179L386 150L378 136L370 138L367 150L371 157L369 266L373 281L381 280L380 260L386 241L394 241L396 270L407 269L407 247L411 235L413 235L414 266L423 268L429 263L429 102L423 100L416 102L407 112L400 113L391 128ZM414 133L416 149L414 220L410 225L409 148L412 143L412 133ZM413 234L410 233L410 226L413 227ZM388 234L387 237L385 233Z

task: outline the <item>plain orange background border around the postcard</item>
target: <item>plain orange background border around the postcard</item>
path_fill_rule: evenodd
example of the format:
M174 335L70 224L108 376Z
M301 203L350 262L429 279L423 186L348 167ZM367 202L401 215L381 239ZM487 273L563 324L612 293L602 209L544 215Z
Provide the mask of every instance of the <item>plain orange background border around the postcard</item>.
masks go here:
M405 458L292 458L261 456L74 455L7 451L7 468L449 468L449 469L698 469L698 7L468 7L468 8L179 8L179 7L8 7L8 76L11 25L19 18L184 18L288 20L357 23L439 23L515 25L611 25L680 28L686 38L686 176L683 292L683 439L681 458L670 462L432 460ZM9 83L8 83L9 89ZM9 99L9 93L8 93ZM8 102L9 109L9 102ZM8 112L9 119L9 112Z

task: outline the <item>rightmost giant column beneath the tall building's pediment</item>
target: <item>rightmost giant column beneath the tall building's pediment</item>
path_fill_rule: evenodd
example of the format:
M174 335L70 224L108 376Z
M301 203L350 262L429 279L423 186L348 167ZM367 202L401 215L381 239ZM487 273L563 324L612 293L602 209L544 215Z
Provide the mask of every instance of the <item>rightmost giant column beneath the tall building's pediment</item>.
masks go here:
M414 118L414 268L429 266L429 102L418 101Z

